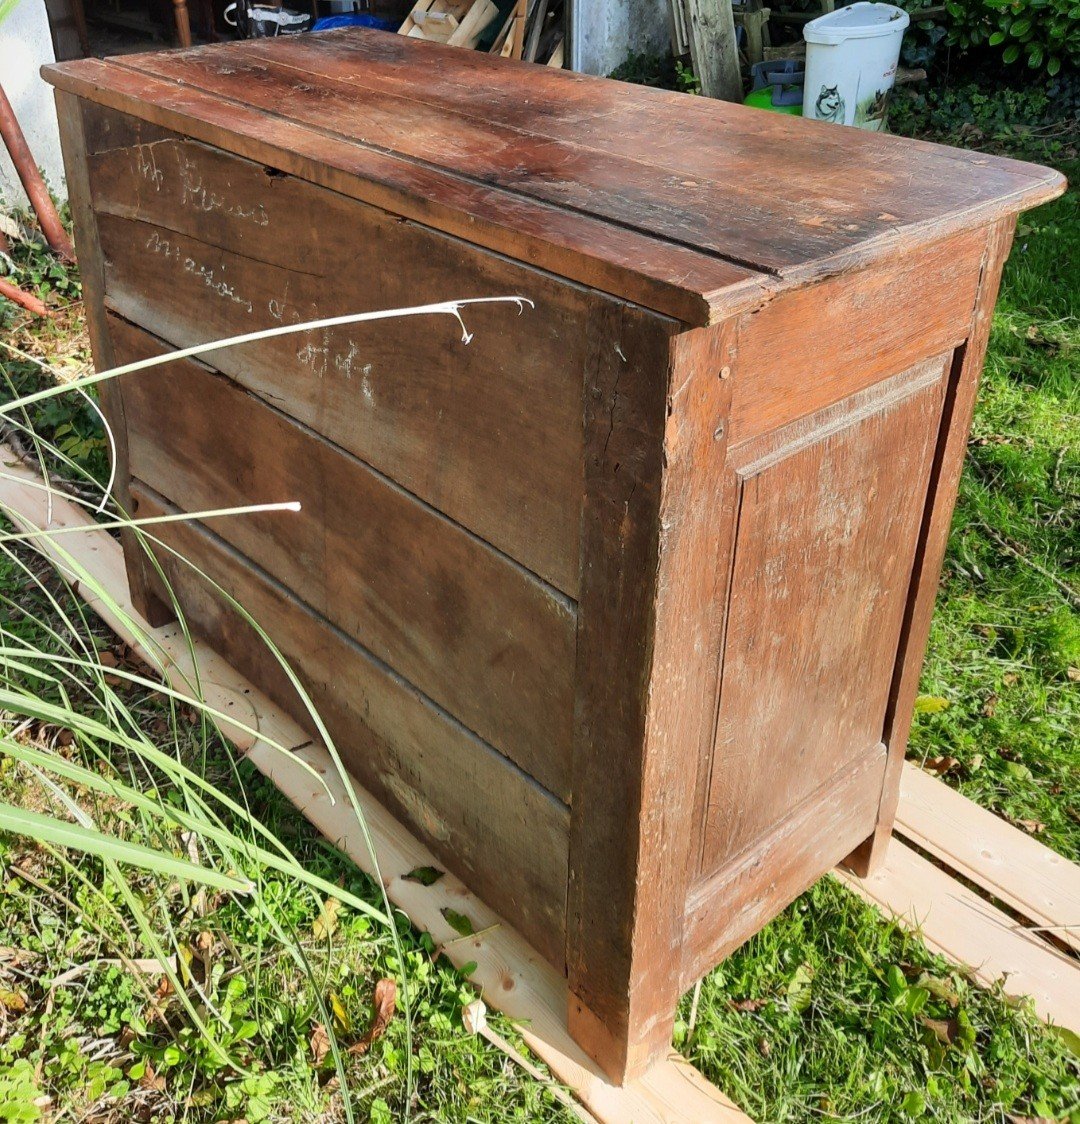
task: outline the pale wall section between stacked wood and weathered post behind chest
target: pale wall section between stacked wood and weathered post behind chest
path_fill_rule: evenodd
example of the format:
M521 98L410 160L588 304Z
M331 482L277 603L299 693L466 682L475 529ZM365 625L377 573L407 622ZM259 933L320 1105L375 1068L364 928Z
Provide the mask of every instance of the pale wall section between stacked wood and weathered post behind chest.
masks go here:
M669 0L571 0L571 65L610 74L632 52L671 48Z

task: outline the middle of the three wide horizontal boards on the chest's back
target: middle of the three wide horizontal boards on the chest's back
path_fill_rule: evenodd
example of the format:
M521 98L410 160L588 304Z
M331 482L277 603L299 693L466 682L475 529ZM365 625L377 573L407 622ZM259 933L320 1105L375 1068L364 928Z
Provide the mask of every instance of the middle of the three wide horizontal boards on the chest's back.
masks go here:
M120 362L161 353L116 317L109 332ZM214 531L569 799L572 604L201 364L127 377L124 397L133 475L185 511L299 501Z

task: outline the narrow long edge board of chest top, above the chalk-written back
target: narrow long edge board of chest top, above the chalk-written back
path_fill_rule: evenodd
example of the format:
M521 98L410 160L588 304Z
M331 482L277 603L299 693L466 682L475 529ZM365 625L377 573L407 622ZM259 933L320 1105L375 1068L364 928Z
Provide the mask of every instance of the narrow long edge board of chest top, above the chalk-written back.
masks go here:
M687 323L708 324L768 296L768 279L754 271L285 119L267 127L265 114L246 103L83 62L92 65L53 75L57 85L207 144L228 136L240 156Z

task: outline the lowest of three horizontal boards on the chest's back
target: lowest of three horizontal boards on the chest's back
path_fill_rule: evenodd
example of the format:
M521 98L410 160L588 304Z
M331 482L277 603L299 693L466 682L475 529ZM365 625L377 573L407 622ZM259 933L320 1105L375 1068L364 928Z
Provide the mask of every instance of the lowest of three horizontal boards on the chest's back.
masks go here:
M138 480L133 495L139 516L175 511ZM224 540L196 523L154 534L197 560L266 629L350 771L560 967L566 808ZM314 734L296 689L246 620L190 566L157 556L196 635Z

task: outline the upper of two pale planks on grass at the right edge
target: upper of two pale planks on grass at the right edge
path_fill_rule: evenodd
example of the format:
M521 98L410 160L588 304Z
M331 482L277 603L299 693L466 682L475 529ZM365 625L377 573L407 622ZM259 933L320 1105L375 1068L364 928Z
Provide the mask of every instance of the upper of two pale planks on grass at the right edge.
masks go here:
M910 762L896 831L1080 952L1080 867Z

